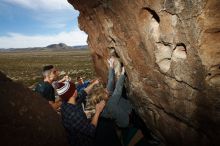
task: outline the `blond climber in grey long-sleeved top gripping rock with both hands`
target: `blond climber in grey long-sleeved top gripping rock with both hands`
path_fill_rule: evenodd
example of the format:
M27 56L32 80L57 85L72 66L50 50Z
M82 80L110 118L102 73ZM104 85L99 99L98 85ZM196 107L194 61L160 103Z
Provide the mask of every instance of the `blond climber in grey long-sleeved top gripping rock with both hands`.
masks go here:
M132 113L132 105L121 96L125 80L125 68L122 67L115 85L114 58L110 58L108 63L110 68L107 88L98 88L91 94L91 102L93 104L101 100L106 101L106 106L97 127L95 143L97 146L121 145L115 125L122 129L127 128L129 126L129 117Z

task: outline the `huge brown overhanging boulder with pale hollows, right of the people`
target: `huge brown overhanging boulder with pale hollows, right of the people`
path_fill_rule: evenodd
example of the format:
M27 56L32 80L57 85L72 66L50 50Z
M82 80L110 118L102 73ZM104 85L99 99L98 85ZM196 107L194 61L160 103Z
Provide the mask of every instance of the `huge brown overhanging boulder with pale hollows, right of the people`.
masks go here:
M97 73L109 48L136 110L166 145L220 145L219 0L68 0Z

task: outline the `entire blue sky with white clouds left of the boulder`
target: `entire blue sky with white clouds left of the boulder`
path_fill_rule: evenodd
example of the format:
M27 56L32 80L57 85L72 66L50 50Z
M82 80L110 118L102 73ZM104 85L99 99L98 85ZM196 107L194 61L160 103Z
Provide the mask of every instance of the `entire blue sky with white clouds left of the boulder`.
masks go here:
M86 45L67 0L0 0L0 48Z

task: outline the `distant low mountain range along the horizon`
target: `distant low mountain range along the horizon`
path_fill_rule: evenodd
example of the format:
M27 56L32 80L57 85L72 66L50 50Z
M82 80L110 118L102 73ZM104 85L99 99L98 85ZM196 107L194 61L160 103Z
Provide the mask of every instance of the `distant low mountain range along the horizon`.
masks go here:
M88 49L87 45L82 46L67 46L64 43L51 44L46 47L29 47L29 48L9 48L9 49L0 49L0 52L11 52L11 51L67 51L73 49Z

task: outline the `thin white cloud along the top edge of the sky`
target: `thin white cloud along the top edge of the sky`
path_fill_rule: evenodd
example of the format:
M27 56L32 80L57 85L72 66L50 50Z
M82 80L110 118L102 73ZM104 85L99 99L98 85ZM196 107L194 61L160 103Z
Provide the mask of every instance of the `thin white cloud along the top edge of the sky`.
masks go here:
M20 5L25 8L39 10L73 9L67 0L3 0L6 3Z

